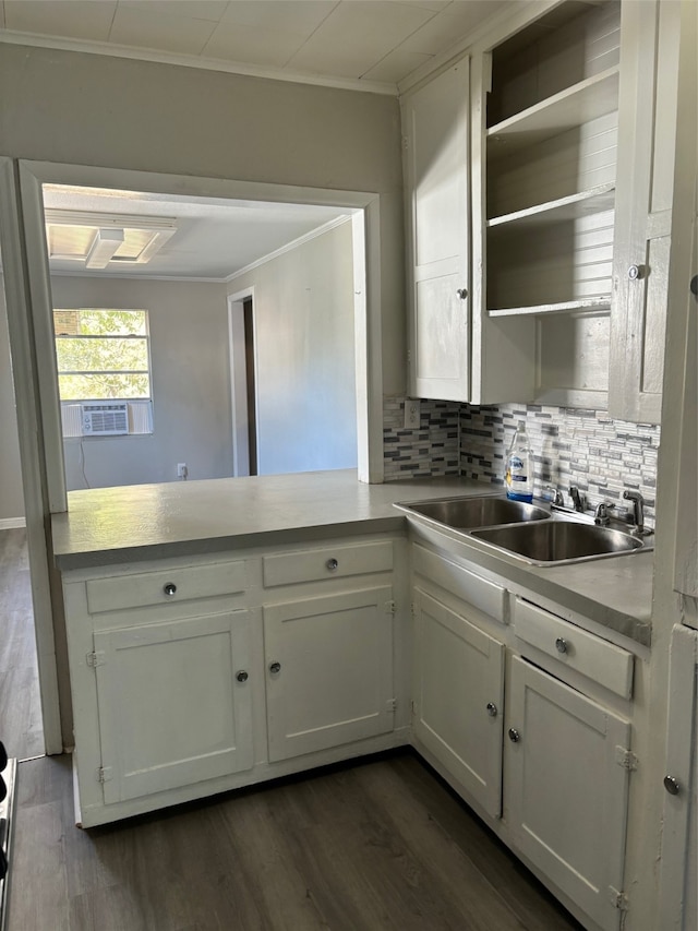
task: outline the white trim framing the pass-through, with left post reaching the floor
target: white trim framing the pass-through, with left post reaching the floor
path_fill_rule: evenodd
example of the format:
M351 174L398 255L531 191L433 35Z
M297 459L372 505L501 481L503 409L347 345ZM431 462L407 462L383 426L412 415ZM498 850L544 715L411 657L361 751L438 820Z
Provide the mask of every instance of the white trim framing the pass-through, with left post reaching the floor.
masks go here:
M232 179L31 162L0 157L0 229L5 290L12 310L11 347L22 470L25 476L27 541L39 656L39 690L47 753L72 743L67 668L56 653L62 599L52 568L50 515L68 510L60 403L51 317L43 184L72 184L226 200L315 204L352 211L354 243L354 333L357 357L358 478L383 481L383 363L381 326L381 201L361 191L335 191ZM55 628L56 624L56 628ZM62 736L61 736L62 735Z

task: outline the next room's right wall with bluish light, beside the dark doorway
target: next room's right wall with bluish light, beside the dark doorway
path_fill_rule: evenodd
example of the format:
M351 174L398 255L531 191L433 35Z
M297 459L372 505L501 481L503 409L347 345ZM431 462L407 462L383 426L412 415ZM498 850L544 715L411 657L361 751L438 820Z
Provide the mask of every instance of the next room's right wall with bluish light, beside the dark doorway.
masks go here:
M351 223L233 279L254 288L257 472L354 468Z

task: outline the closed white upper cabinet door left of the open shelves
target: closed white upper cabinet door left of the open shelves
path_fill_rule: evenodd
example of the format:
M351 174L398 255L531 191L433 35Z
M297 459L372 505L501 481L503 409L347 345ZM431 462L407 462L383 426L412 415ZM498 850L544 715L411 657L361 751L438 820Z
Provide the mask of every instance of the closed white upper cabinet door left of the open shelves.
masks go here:
M410 392L469 401L469 60L402 105L408 192Z

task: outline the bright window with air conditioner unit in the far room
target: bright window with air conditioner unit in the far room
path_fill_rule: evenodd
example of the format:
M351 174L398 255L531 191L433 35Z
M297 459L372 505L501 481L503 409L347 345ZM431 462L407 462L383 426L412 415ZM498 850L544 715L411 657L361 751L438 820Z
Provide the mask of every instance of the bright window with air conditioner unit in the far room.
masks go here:
M152 432L147 311L55 310L53 332L63 435Z

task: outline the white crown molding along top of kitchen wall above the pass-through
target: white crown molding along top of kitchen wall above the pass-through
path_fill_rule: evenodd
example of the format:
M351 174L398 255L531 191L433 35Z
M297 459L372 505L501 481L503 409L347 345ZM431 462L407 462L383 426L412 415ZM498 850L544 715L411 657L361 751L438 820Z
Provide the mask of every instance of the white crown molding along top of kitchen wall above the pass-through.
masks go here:
M108 55L112 58L130 58L135 61L151 61L156 64L176 64L183 68L197 68L202 71L222 71L227 74L240 74L245 77L264 77L269 81L286 81L291 84L311 84L316 87L330 87L335 91L361 91L364 94L382 94L397 97L397 84L383 81L364 81L360 77L329 77L322 74L303 74L296 71L281 71L238 61L224 61L219 58L198 58L191 55L140 49L110 43L86 41L84 39L63 39L34 33L20 33L13 29L0 29L0 43L8 45L51 48L59 51L77 51L86 55Z

